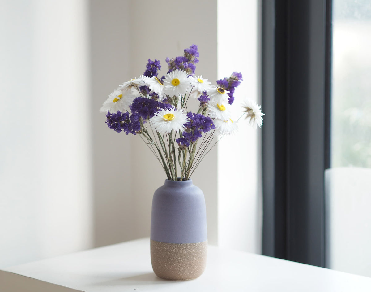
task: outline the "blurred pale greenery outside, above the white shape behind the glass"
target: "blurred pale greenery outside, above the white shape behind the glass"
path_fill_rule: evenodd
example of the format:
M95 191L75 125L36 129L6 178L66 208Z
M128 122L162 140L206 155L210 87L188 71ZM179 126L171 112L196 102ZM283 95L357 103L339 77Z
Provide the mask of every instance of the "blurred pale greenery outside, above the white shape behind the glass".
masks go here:
M371 168L371 1L334 0L331 167Z

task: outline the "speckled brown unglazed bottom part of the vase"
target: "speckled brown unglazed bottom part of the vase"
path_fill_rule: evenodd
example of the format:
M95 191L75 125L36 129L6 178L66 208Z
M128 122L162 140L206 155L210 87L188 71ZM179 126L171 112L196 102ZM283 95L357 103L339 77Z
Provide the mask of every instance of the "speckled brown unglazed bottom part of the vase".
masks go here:
M191 280L206 267L207 241L163 243L151 240L151 262L155 274L168 280Z

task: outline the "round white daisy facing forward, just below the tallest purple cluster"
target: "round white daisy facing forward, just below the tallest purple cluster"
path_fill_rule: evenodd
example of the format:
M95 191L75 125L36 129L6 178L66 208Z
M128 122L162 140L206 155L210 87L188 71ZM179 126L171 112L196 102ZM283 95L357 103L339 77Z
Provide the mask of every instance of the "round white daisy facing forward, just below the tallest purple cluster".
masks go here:
M169 72L164 78L164 92L170 97L184 95L191 87L187 77L187 72L179 69Z

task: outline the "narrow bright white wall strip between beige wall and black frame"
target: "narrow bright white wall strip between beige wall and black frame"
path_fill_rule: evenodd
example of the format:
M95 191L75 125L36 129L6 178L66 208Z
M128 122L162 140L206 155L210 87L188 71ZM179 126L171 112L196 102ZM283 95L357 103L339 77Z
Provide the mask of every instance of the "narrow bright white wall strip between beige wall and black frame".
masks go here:
M218 0L218 79L234 71L243 77L234 93L234 121L242 115L244 100L260 100L257 5L257 0ZM218 147L218 243L261 253L260 129L249 127L244 117L238 126L238 132L224 136Z

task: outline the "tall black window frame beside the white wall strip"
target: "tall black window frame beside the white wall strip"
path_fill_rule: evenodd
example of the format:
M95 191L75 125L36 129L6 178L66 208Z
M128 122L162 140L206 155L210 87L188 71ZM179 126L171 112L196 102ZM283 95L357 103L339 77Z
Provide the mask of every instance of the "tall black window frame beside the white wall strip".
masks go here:
M331 17L331 0L262 0L262 253L321 267Z

